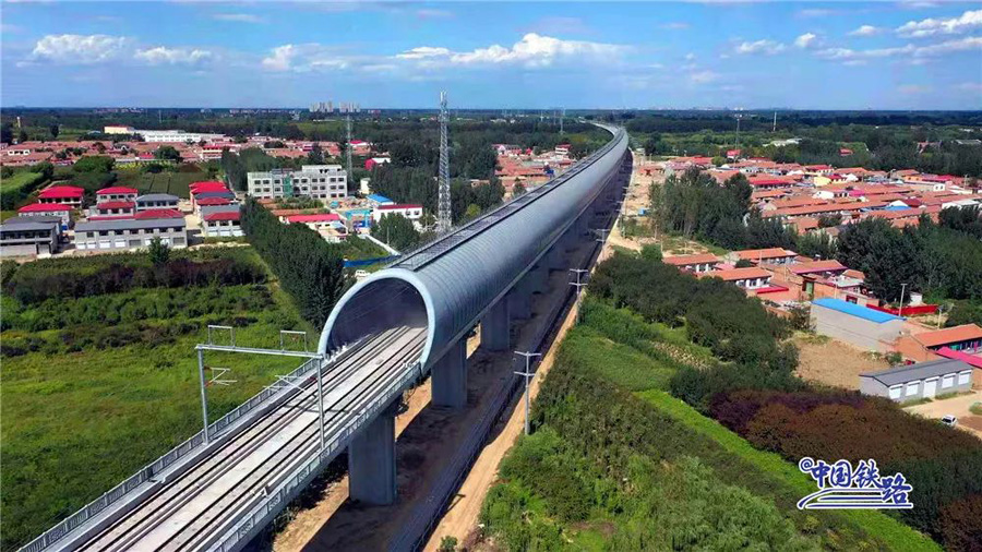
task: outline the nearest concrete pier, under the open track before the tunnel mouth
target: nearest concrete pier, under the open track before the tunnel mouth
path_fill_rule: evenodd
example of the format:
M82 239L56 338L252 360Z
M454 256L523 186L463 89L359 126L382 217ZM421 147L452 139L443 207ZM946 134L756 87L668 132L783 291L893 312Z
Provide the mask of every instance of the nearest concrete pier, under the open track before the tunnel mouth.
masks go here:
M348 445L349 496L372 506L396 499L395 415L398 400L387 406Z

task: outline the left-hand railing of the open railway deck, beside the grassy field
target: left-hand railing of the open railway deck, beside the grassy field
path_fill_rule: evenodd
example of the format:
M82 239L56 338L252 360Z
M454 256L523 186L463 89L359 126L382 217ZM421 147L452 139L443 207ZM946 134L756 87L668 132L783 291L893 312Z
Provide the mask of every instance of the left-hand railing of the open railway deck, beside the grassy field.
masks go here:
M314 360L315 359L308 360L296 370L290 372L288 377L302 377L307 375L308 372L313 372L316 368L316 363L314 362ZM276 384L264 387L262 391L253 395L249 400L242 403L232 411L215 420L211 425L208 425L208 435L211 436L211 439L221 436L232 424L235 424L236 421L243 418L251 410L258 408L259 406L263 405L280 393L291 393L291 389L284 389ZM76 529L81 525L84 525L112 504L120 502L120 500L130 494L133 490L149 481L154 478L154 476L163 472L170 466L175 465L177 460L183 458L204 444L204 431L199 431L183 443L171 448L153 463L144 466L139 471L124 479L121 483L105 492L98 499L89 502L74 514L62 519L57 525L38 536L36 539L28 542L24 548L21 549L21 552L39 552L55 544L72 530Z

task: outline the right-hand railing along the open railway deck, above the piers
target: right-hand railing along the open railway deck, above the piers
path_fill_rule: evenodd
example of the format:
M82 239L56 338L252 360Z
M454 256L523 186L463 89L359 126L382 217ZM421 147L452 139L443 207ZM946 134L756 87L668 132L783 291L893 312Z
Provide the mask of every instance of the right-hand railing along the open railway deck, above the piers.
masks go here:
M375 399L368 408L350 415L344 423L344 429L326 444L323 451L306 461L292 477L280 483L262 502L242 516L212 550L231 552L239 550L252 539L256 531L261 530L278 515L338 453L348 446L351 437L363 424L370 422L392 403L394 396L398 395L412 381L420 377L420 368L419 362L409 364L409 370L406 371L406 374L393 382L385 391L375 395Z

